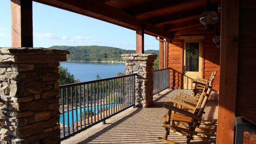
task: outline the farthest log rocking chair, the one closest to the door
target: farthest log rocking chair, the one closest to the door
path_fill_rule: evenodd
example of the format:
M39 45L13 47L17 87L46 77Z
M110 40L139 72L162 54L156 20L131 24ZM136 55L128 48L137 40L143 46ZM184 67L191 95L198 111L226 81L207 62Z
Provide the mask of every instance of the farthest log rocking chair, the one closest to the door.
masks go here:
M209 79L211 80L213 76L216 76L216 71L212 71L212 74ZM207 84L207 80L196 78L195 80L193 80L193 83L195 83L195 86L193 87L194 96L197 96L198 93L202 93L204 86Z

